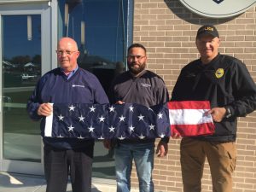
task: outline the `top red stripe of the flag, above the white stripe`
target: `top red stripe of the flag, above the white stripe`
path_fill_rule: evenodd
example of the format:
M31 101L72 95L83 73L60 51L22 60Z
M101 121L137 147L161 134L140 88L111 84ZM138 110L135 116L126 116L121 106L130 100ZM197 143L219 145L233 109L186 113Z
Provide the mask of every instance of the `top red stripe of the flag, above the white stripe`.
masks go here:
M169 109L210 109L208 101L183 101L183 102L168 102Z

